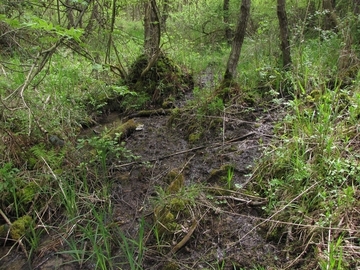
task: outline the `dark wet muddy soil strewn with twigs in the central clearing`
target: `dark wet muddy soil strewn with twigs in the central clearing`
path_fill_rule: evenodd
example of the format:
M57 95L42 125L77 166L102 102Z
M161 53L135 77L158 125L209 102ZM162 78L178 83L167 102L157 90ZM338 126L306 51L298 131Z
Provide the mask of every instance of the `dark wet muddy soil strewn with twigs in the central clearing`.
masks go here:
M128 224L124 228L130 235L136 234L136 229L131 230L137 228L136 220L142 212L152 215L149 198L156 196L156 187L167 186L164 179L173 169L183 172L186 185L198 183L222 189L224 183L216 174L214 177L214 171L230 164L234 168L233 184L240 188L228 196L215 194L215 201L212 196L197 198L194 211L199 220L191 240L170 257L149 250L145 269L166 269L169 263L177 265L176 269L211 269L214 265L223 269L249 269L256 265L276 268L281 264L279 248L267 242L266 232L256 227L261 221L261 201L257 204L256 199L241 193L250 180L251 166L261 155L259 142L266 143L272 129L271 116L263 118L260 110L245 112L248 109L240 106L231 115L219 117L218 126L209 127L204 137L192 144L186 137L187 127L182 125L186 121L169 126L169 117L135 119L143 129L129 137L126 146L142 161L150 162L148 166L115 166L121 175L129 173L114 195L119 216L127 213ZM212 120L209 119L209 125ZM185 230L190 225L189 221L183 224Z

